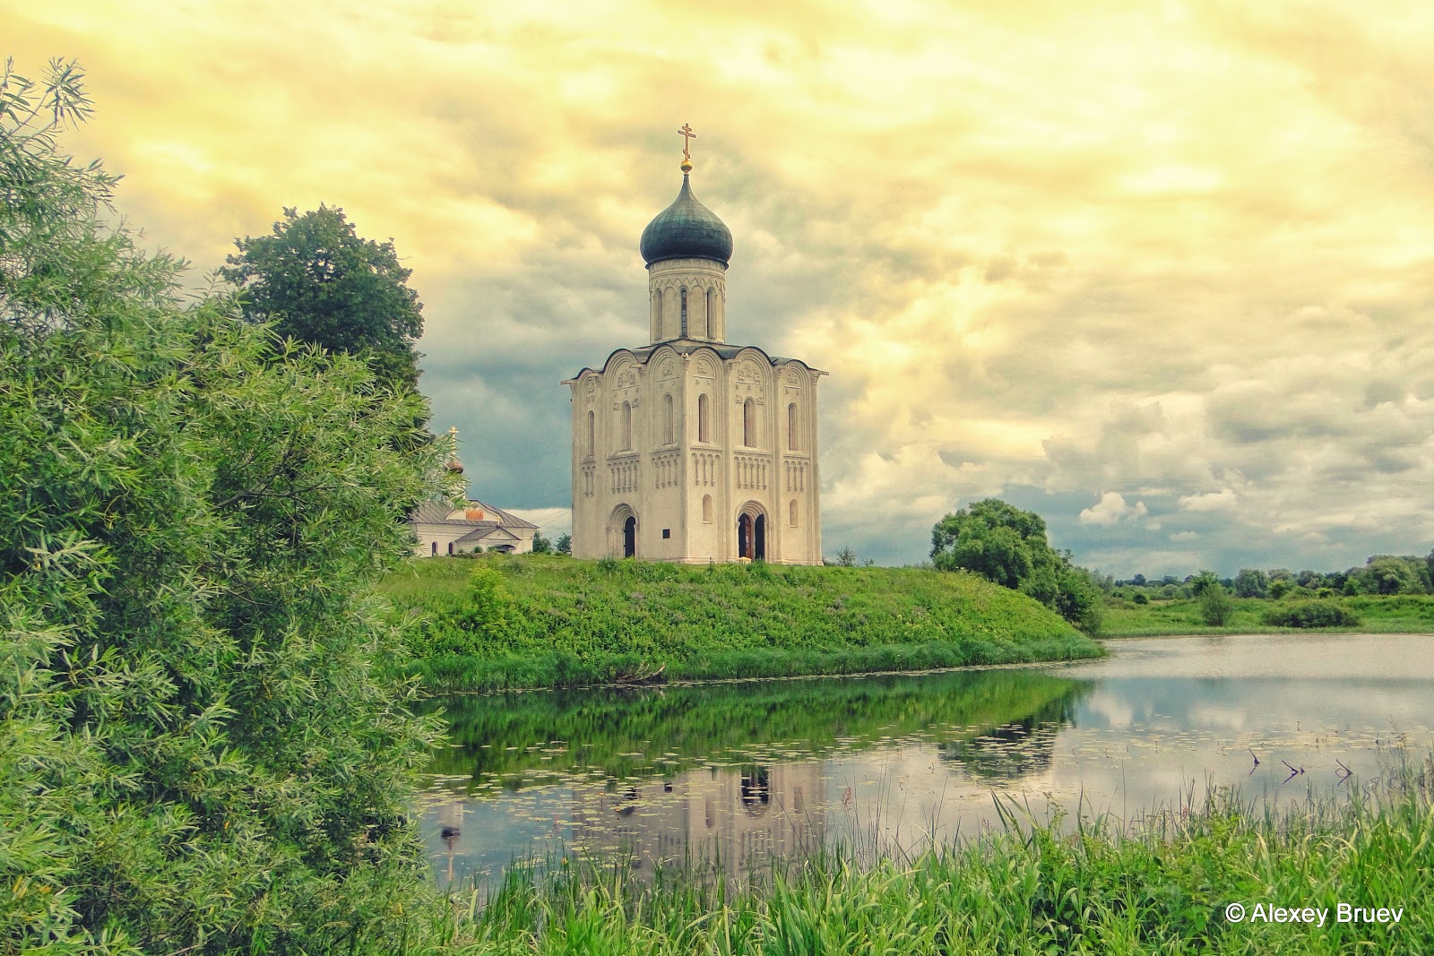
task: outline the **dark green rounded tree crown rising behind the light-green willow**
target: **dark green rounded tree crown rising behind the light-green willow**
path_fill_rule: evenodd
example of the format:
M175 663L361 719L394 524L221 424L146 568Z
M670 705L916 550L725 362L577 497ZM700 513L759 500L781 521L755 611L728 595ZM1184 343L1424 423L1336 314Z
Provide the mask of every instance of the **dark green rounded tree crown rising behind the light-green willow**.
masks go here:
M272 235L234 244L239 251L219 274L239 287L245 318L361 355L393 388L417 387L423 305L391 239L361 239L343 209L320 205L303 215L285 208Z

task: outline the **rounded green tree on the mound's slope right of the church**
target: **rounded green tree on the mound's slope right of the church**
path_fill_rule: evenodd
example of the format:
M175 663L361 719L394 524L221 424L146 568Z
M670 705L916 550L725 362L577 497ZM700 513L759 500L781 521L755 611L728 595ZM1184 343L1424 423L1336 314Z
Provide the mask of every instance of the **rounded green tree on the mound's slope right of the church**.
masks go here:
M1045 522L988 497L946 515L931 529L936 570L969 570L1035 598L1087 634L1101 622L1101 583L1045 539Z

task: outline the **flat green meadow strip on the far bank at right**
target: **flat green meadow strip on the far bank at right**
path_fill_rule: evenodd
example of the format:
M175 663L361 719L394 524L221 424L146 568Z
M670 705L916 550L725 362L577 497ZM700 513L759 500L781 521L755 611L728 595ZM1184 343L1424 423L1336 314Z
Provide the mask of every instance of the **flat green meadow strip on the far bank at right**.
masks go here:
M1272 611L1309 603L1311 599L1230 598L1232 613L1223 628L1212 628L1200 615L1199 599L1152 601L1144 605L1117 598L1104 608L1101 638L1156 638L1203 634L1289 634L1295 628L1268 623ZM1361 595L1318 599L1352 612L1359 621L1348 628L1312 628L1339 634L1434 634L1434 596ZM1308 631L1306 631L1308 632Z

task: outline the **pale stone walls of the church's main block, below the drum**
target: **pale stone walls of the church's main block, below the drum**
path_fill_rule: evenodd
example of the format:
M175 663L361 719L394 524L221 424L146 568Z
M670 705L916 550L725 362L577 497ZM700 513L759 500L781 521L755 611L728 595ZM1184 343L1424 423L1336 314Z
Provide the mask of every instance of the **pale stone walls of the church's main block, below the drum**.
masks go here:
M641 364L618 353L607 373L584 373L571 386L575 556L621 556L621 520L614 520L614 512L625 507L637 519L641 559L734 560L737 519L747 509L766 517L767 560L820 562L819 484L812 454L816 376L804 367L792 363L773 368L757 350L724 361L706 348L681 355L664 347ZM673 398L671 431L667 396ZM707 441L700 427L703 396ZM754 403L757 426L753 446L743 444L747 398ZM796 450L787 449L792 403L797 404ZM704 507L708 496L711 503ZM792 502L797 505L794 527Z

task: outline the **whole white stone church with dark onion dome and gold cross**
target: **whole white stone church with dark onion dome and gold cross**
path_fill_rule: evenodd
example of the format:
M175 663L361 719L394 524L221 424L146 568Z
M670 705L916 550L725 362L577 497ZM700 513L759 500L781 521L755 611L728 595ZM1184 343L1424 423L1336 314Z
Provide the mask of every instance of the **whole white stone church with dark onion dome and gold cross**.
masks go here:
M731 231L677 199L642 231L650 340L572 390L572 553L683 563L822 563L817 381L727 343Z

